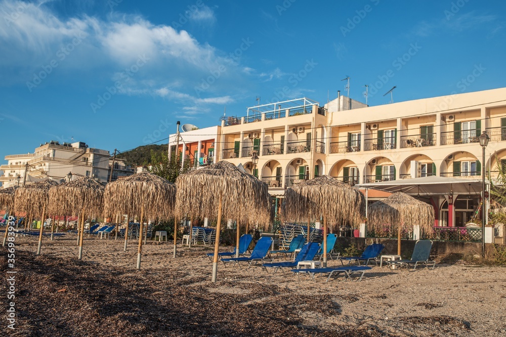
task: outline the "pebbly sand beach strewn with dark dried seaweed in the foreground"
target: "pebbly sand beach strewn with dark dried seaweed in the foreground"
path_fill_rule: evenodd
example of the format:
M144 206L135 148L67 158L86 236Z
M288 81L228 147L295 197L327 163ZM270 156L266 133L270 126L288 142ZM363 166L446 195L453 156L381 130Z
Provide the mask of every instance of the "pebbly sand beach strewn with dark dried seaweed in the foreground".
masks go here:
M122 240L86 238L82 261L74 237L44 239L40 256L36 245L36 238L16 238L16 328L3 319L2 335L506 335L504 267L374 266L360 282L325 283L220 264L213 284L205 257L212 247L178 245L173 259L172 243L148 242L138 271L133 240L125 253ZM2 288L5 294L6 282Z

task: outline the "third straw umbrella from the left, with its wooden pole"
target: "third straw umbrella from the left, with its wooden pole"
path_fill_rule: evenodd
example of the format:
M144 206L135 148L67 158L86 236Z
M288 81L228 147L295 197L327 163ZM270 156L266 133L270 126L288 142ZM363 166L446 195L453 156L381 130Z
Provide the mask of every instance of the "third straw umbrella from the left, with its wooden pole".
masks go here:
M80 217L79 253L82 258L82 240L84 235L85 214L98 215L103 212L105 187L90 177L64 182L49 190L51 211L55 214L66 214Z

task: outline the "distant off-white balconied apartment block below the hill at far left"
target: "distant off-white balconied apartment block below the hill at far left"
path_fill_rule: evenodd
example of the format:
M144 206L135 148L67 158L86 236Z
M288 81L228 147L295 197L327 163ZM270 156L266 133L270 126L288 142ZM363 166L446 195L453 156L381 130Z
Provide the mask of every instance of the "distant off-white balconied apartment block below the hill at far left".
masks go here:
M112 159L107 150L89 148L85 142L63 143L50 141L41 144L34 153L6 156L7 164L0 166L2 187L29 184L48 177L68 179L69 173L75 179L88 176L101 183L112 181L118 176L134 174L124 160Z

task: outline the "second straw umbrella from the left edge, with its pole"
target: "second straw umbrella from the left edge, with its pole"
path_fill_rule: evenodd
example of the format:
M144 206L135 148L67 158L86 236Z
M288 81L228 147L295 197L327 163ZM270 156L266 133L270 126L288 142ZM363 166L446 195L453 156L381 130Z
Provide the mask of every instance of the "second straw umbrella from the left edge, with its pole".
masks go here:
M42 246L44 217L49 205L49 189L58 184L59 182L51 179L41 180L30 185L21 186L14 193L14 210L16 213L41 214L37 255L40 254L40 247Z

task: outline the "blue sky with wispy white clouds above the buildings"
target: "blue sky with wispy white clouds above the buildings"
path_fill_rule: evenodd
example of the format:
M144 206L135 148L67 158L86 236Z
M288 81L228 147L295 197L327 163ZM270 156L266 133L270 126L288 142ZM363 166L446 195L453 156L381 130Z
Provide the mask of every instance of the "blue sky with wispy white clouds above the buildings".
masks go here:
M257 97L323 105L347 76L355 100L369 85L369 105L387 104L394 85L395 102L503 87L505 7L0 0L0 158L50 140L125 151L177 120L216 125L225 107L243 116Z

